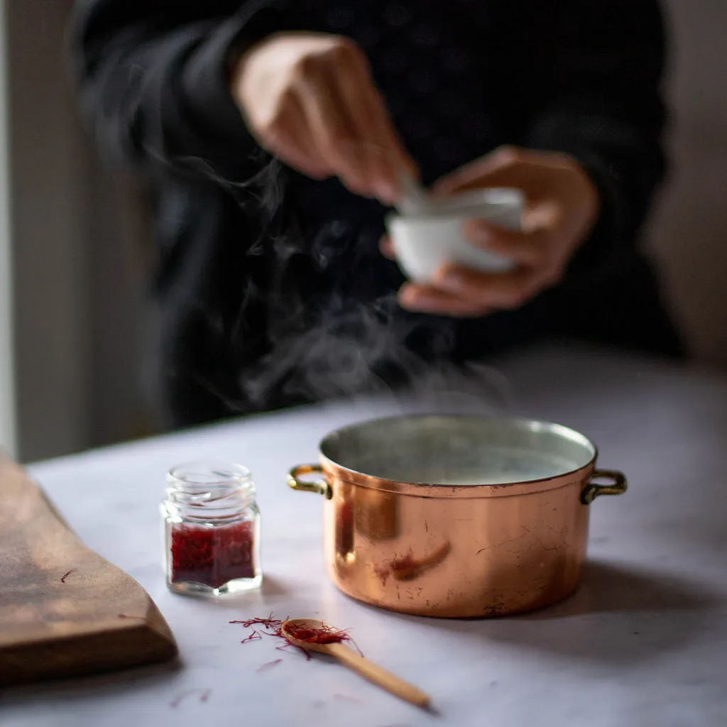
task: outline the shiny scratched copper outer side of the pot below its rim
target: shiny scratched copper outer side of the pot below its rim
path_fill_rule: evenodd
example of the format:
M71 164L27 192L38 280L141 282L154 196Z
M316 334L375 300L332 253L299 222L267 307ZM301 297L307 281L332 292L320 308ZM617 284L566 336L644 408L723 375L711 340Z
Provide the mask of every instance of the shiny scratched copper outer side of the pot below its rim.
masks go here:
M324 501L328 571L353 598L409 614L467 618L528 611L577 586L589 512L579 496L592 465L558 478L552 489L518 492L524 497L496 488L481 498L457 497L454 488L442 493L450 497L387 492L398 501L398 534L379 540L359 530L356 507L371 501L356 490L365 486L325 464L334 492Z

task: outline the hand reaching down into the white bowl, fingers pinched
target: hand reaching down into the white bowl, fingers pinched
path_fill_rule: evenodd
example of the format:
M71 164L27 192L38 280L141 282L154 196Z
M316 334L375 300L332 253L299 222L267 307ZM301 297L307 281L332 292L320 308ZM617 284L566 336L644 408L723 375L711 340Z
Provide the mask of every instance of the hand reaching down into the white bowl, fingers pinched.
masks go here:
M234 99L260 144L309 177L336 176L392 204L414 163L394 131L361 49L323 33L281 33L242 55Z

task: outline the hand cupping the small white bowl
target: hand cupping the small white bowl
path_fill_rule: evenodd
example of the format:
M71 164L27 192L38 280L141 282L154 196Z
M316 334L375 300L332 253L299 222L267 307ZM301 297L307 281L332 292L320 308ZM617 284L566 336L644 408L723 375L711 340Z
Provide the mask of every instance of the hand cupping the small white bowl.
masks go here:
M498 228L485 220L465 224L471 244L515 262L505 273L481 273L444 265L430 284L407 283L399 292L403 308L445 316L484 316L493 310L519 308L557 283L572 254L598 217L598 192L573 158L561 153L502 147L453 172L434 193L486 187L523 190L526 206L522 231ZM389 240L382 252L393 256Z

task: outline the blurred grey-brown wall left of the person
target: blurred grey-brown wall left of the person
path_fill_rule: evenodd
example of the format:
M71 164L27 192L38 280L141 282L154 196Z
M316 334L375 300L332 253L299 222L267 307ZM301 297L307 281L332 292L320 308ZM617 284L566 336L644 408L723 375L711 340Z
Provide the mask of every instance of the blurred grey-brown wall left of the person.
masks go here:
M0 221L12 238L5 317L14 329L10 338L0 328L0 382L15 353L15 433L6 424L0 444L14 441L23 460L143 433L136 253L144 234L131 188L100 171L77 119L63 60L70 7L0 0L9 149L0 178L11 202Z

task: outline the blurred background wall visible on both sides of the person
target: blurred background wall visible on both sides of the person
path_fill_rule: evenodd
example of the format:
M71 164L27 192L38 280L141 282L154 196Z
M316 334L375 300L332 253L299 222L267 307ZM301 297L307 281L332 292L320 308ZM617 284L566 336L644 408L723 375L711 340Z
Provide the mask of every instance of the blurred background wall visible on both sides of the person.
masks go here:
M147 230L76 119L60 60L70 4L0 0L0 444L23 460L150 427L137 373ZM727 369L727 2L666 6L672 180L648 246L697 361Z

